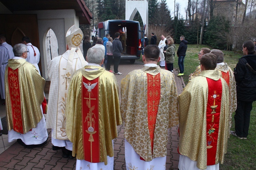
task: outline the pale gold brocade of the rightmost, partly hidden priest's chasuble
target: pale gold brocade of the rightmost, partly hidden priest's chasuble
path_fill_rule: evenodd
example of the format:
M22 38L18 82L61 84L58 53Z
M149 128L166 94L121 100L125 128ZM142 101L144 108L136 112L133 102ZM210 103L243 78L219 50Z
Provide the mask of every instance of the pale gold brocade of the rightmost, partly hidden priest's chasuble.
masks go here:
M227 63L224 65L217 64L216 69L219 71L219 75L222 76L222 71L229 74L229 110L230 110L230 124L232 124L232 113L237 109L237 89L236 89L236 80L234 78L234 73Z

